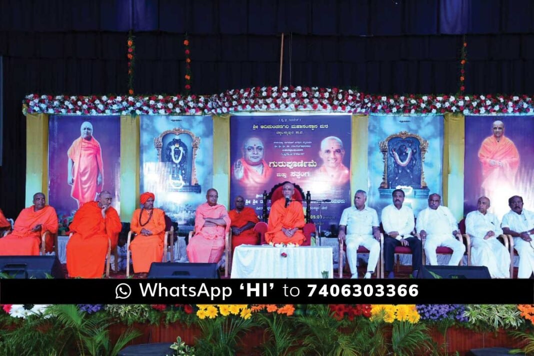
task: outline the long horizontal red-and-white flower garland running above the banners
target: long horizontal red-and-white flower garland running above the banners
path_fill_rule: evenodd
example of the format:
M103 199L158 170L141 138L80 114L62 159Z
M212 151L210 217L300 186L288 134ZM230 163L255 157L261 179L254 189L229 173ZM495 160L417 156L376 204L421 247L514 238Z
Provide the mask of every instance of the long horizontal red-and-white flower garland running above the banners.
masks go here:
M227 90L213 96L51 96L29 94L28 113L62 115L203 115L232 112L332 112L376 115L534 114L531 96L374 96L337 88L276 86Z

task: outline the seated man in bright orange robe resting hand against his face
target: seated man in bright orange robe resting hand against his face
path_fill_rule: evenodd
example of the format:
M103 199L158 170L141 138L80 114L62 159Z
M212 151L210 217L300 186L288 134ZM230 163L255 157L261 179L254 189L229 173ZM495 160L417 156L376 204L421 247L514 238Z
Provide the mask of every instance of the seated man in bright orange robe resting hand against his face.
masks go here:
M117 211L111 206L108 191L100 193L98 201L87 202L74 214L69 226L67 271L70 277L101 278L104 274L108 239L111 248L117 245L122 225Z

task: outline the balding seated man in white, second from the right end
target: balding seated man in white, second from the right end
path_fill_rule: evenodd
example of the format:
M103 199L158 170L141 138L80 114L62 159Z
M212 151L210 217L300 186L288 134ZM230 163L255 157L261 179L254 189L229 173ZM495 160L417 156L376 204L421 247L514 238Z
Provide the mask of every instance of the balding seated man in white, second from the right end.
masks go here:
M502 234L499 219L488 212L490 200L478 198L478 210L466 217L466 233L471 236L471 263L473 266L486 266L491 278L510 276L510 252L497 240Z

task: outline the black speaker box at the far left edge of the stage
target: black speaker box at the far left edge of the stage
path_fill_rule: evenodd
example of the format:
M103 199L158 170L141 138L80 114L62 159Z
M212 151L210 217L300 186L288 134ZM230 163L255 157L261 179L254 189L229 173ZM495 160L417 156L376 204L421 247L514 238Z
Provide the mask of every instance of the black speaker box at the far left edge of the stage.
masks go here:
M0 256L0 273L9 278L65 278L56 256Z

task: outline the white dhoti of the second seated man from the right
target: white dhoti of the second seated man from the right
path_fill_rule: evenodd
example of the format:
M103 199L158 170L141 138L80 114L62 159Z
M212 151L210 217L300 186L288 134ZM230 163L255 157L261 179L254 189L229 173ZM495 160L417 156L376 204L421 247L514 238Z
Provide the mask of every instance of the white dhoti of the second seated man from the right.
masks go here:
M510 252L496 238L471 238L471 263L473 266L486 266L491 278L510 277Z

